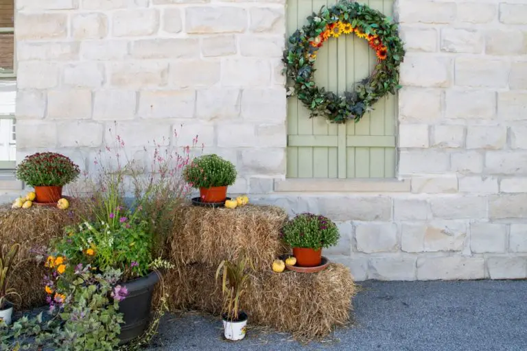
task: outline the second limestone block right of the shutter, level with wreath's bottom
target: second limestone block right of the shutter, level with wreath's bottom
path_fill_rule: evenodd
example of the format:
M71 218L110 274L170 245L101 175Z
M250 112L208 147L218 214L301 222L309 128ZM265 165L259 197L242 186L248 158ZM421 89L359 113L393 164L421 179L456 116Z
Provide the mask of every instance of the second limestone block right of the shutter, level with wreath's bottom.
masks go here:
M484 90L447 90L445 117L491 119L496 115L496 93Z

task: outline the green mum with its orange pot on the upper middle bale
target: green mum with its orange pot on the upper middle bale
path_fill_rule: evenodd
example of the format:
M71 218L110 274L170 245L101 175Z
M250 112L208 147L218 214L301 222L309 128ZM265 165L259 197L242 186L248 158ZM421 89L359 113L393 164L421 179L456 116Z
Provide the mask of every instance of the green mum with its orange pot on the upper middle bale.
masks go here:
M236 168L228 160L218 155L204 155L192 160L183 171L185 180L196 189L200 189L202 202L224 202L227 186L236 180Z

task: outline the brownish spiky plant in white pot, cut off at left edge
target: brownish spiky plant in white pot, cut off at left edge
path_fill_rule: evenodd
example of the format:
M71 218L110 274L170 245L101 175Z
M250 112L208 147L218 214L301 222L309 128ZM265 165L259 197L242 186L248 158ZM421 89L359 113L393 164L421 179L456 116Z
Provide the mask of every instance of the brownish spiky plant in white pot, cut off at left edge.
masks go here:
M11 324L13 305L8 301L9 295L17 295L14 289L8 288L9 278L15 269L14 259L19 253L20 244L16 243L12 247L1 247L0 250L0 320L5 324Z

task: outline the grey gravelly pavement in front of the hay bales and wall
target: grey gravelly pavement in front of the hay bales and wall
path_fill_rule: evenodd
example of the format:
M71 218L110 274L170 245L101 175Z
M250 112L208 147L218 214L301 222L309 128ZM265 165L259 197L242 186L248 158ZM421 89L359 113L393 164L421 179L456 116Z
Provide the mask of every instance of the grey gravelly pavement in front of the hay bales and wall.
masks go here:
M150 351L165 350L527 350L527 280L364 282L355 324L322 343L249 329L222 339L219 319L167 316ZM249 316L250 323L250 316Z

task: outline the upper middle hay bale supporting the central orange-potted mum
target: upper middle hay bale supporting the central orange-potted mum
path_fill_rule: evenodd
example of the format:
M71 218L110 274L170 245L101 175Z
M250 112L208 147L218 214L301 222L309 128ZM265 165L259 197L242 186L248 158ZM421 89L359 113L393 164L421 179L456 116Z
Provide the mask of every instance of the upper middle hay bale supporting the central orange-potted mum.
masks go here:
M180 206L174 213L169 255L174 262L217 267L244 251L255 267L268 269L274 258L288 252L279 238L287 218L285 210L276 206L247 205L234 210Z

